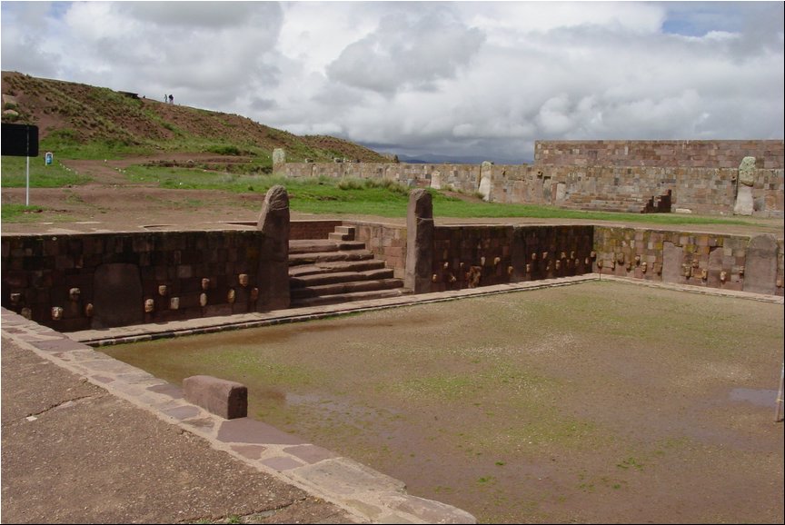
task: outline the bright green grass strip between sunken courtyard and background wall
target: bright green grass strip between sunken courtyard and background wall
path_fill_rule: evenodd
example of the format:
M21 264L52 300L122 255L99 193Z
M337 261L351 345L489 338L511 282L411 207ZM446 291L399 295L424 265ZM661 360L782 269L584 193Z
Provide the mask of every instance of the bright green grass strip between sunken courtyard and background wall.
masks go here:
M51 135L50 135L51 136ZM62 133L60 138L67 138ZM191 144L194 146L194 144ZM94 158L109 158L122 153L122 147L103 145L80 145L81 155ZM227 149L228 148L228 149ZM56 149L56 148L52 148ZM290 206L294 212L314 214L374 215L379 217L405 217L409 204L410 189L392 181L375 179L289 179L268 174L271 160L267 154L258 154L252 149L239 149L221 144L200 144L195 151L212 151L221 154L248 154L249 163L232 165L238 173L226 173L198 165L194 168L132 165L124 170L132 183L157 183L163 188L183 190L220 190L234 193L266 193L273 185L283 185L289 193ZM48 151L48 149L44 150ZM194 151L194 150L192 150ZM31 160L31 187L63 187L86 183L89 177L67 171L56 161L45 166L43 157ZM2 185L4 187L25 186L25 159L3 157ZM729 219L710 216L681 215L671 213L611 213L564 210L555 206L536 204L467 202L435 190L433 214L437 217L453 218L515 218L577 219L592 223L617 221L663 225L691 224L739 224L749 225L750 220Z

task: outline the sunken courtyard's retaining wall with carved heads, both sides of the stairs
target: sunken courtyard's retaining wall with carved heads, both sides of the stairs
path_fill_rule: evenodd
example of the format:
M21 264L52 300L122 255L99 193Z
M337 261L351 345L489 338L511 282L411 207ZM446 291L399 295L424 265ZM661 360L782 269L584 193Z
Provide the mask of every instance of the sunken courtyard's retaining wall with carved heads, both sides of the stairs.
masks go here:
M355 238L402 278L406 228L343 224L353 225ZM324 238L321 233L335 225L315 222L313 231ZM312 229L301 223L294 230ZM287 283L260 278L271 263L263 243L263 233L255 230L3 235L2 306L61 332L263 312L271 310L262 299L270 290L288 290ZM422 292L600 272L781 296L783 252L783 240L770 234L435 226L430 282ZM288 296L283 300L288 304Z

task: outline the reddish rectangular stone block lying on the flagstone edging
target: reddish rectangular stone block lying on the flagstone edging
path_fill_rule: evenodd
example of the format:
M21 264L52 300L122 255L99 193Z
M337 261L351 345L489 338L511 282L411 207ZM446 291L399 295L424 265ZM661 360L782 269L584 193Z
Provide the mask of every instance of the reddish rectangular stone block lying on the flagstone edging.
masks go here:
M248 415L248 389L245 385L209 375L194 375L183 380L185 401L226 420Z

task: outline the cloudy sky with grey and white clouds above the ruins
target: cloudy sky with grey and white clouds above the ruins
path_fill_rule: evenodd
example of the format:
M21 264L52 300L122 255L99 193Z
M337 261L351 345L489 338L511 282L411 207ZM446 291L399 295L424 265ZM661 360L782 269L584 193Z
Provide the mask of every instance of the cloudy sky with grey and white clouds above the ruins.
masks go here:
M2 2L2 69L379 152L782 139L782 2Z

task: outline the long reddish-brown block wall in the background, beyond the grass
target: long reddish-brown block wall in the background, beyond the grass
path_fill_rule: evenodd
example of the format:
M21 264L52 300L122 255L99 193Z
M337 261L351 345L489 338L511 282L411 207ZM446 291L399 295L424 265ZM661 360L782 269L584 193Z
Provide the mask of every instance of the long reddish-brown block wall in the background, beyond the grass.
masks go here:
M542 141L534 164L286 163L287 177L375 178L482 193L494 203L640 213L670 193L671 211L732 215L739 166L756 158L754 212L785 212L782 141ZM482 192L481 192L482 190Z

